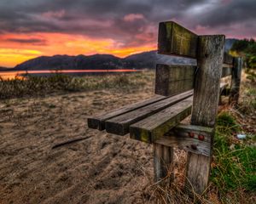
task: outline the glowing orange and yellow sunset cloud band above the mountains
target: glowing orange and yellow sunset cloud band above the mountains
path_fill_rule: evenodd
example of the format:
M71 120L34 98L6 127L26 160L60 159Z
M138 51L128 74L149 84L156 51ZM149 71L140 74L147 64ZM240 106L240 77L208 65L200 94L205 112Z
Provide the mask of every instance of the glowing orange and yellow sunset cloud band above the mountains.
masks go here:
M40 43L42 42L42 43ZM154 44L119 48L113 39L91 39L60 33L4 34L0 36L0 65L13 67L41 55L113 54L125 57L154 48Z

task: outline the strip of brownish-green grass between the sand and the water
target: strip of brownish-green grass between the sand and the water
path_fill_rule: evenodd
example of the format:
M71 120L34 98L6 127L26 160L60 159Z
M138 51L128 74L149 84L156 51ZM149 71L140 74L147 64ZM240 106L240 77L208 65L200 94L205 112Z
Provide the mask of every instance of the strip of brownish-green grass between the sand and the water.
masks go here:
M153 73L153 72L152 72ZM0 99L44 96L45 94L90 91L104 88L129 90L142 88L153 74L131 73L104 76L69 77L56 74L53 77L27 77L6 80L0 78Z

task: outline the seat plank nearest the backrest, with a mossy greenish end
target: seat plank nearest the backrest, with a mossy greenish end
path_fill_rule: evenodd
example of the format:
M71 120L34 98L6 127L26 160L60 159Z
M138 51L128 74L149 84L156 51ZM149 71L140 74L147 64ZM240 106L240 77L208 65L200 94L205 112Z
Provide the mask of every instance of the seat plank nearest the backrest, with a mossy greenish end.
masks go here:
M159 139L172 127L177 126L184 118L191 114L193 97L183 99L175 105L160 111L153 116L137 122L130 127L131 139L152 143Z

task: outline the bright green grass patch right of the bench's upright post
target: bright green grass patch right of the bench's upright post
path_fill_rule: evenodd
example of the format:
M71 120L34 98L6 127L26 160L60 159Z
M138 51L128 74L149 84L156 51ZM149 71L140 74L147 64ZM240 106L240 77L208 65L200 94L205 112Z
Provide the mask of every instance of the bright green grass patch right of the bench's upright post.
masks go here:
M239 190L256 192L256 149L235 139L240 131L230 113L218 115L211 180L223 199Z

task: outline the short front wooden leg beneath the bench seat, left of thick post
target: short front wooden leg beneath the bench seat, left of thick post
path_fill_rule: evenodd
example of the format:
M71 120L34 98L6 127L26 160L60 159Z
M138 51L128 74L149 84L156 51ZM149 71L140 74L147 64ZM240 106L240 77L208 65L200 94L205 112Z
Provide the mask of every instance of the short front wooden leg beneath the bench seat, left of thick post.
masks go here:
M154 145L154 181L159 182L167 178L167 182L172 182L173 148L162 144ZM165 179L166 180L166 179Z

